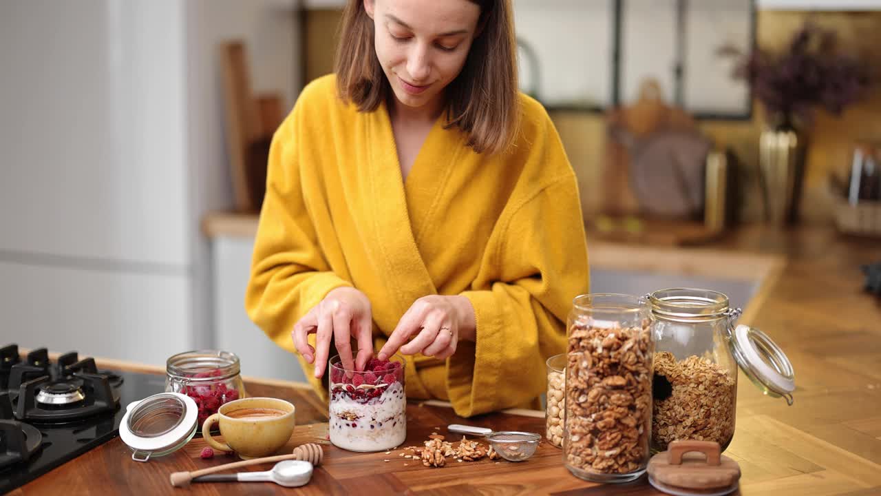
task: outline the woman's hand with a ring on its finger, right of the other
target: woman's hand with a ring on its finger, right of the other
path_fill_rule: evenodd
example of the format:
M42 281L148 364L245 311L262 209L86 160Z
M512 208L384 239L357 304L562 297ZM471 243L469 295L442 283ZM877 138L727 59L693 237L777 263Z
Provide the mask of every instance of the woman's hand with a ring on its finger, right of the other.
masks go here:
M455 353L460 339L474 341L474 327L474 307L468 298L421 297L403 314L377 358L385 360L400 349L404 355L422 353L442 360Z

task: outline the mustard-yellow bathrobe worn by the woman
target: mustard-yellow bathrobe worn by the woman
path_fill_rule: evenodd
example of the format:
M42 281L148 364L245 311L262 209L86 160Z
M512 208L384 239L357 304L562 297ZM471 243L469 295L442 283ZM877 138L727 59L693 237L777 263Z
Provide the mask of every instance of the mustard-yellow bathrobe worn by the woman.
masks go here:
M477 341L445 361L406 357L407 396L448 400L464 417L534 405L544 360L565 349L572 298L588 290L588 257L559 136L537 101L521 101L513 151L476 154L441 118L403 181L385 106L344 104L332 75L310 83L272 139L251 319L294 352L294 323L353 286L373 305L378 350L418 297L462 295Z

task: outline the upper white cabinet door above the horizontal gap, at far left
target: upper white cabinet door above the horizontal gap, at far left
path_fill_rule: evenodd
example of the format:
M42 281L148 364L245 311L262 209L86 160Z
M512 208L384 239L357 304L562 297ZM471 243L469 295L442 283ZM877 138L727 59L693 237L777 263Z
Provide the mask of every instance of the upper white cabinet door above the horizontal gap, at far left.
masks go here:
M0 5L0 250L187 265L180 7Z

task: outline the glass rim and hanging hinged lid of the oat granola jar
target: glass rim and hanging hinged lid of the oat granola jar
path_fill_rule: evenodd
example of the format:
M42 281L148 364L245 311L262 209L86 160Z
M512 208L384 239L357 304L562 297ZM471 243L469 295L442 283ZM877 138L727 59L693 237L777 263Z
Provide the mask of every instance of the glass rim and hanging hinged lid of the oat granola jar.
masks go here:
M700 323L727 319L729 349L746 377L763 393L783 397L791 405L796 389L795 372L786 353L759 329L734 322L739 308L729 308L726 295L710 289L660 289L646 296L655 319L678 323Z

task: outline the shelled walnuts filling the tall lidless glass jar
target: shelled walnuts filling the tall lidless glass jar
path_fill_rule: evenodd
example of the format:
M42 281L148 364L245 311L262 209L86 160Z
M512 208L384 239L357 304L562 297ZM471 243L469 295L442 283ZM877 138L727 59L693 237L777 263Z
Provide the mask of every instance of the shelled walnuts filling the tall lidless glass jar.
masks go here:
M648 462L651 353L640 327L570 329L566 380L566 462L579 470L626 474Z

